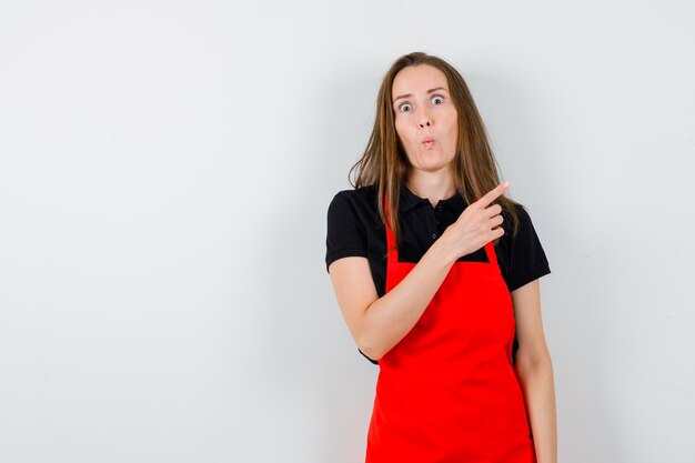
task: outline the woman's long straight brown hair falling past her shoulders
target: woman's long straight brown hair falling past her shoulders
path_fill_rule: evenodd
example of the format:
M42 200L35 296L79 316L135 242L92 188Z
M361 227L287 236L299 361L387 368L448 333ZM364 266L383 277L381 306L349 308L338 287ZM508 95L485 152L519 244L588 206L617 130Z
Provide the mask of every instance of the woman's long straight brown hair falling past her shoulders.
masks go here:
M391 90L395 76L409 66L429 64L440 69L446 76L452 100L459 114L459 140L454 158L454 182L456 190L467 204L473 203L500 182L498 165L495 160L485 125L473 101L463 77L454 67L441 58L423 52L404 54L396 59L384 76L379 95L376 97L376 119L367 147L362 158L350 169L349 181L354 188L366 185L377 187L379 215L386 223L384 215L384 194L389 195L389 228L399 243L399 199L401 184L409 171L409 161L399 140ZM353 183L350 175L357 170ZM504 194L497 197L492 204L498 203L503 212L512 219L513 234L518 230L518 217L514 210L516 201ZM491 205L492 205L491 204ZM505 217L506 221L507 218ZM497 244L495 239L493 244Z

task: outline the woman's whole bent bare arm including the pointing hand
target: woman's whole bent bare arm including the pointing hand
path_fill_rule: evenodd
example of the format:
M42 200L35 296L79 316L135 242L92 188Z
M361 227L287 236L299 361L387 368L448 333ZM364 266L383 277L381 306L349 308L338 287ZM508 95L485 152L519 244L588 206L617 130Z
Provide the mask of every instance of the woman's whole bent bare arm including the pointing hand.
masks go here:
M504 234L500 204L490 205L508 188L504 182L469 205L444 230L420 262L391 291L379 298L369 262L342 258L329 266L338 304L352 338L366 356L379 360L415 325L460 255Z

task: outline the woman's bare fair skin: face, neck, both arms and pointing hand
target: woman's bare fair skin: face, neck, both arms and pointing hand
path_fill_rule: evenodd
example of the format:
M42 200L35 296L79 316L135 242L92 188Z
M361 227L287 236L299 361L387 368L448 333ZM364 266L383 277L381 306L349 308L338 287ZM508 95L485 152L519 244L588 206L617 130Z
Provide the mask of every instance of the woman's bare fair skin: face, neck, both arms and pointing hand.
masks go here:
M432 91L431 91L432 90ZM401 70L393 82L395 128L410 162L407 188L432 205L456 193L452 173L457 113L445 74L421 64ZM406 95L404 98L399 98ZM423 143L431 138L433 142ZM446 228L420 262L390 292L379 298L365 258L331 263L329 273L343 319L365 355L379 360L415 325L453 263L504 234L502 208L490 205L508 184L470 204ZM514 369L524 392L538 463L556 463L553 369L541 318L540 282L511 293L518 351Z

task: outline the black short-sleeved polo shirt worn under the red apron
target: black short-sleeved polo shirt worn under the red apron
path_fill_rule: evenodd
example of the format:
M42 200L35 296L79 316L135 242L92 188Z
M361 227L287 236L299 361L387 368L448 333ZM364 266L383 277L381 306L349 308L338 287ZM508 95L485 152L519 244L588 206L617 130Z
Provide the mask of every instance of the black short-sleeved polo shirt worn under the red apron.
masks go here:
M386 229L379 218L377 189L375 185L343 190L335 194L328 211L326 271L341 258L366 258L379 296L385 294L386 285ZM399 203L401 262L417 263L444 230L454 223L467 207L459 193L432 207L429 199L420 198L402 183ZM503 210L501 227L504 234L495 246L497 264L510 292L551 273L551 269L535 232L531 217L520 204L518 231L512 238L511 218ZM485 249L462 255L459 262L488 262ZM518 343L514 339L513 354ZM362 355L364 353L360 351ZM370 362L375 360L364 355Z

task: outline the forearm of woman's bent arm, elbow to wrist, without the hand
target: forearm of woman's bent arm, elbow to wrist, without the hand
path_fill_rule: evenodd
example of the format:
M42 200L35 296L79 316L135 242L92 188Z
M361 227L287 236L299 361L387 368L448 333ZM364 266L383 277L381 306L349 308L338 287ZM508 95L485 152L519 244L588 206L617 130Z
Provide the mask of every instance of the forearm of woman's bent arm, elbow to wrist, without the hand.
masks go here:
M360 330L365 355L381 359L411 331L454 262L443 234L395 288L366 309Z

